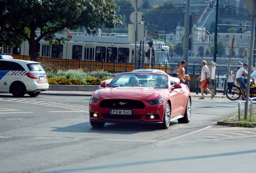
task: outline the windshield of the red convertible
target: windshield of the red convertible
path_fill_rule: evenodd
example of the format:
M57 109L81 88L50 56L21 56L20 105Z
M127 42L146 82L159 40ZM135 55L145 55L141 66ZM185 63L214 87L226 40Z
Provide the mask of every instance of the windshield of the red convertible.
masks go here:
M108 87L153 87L168 88L168 79L163 74L130 73L118 74Z

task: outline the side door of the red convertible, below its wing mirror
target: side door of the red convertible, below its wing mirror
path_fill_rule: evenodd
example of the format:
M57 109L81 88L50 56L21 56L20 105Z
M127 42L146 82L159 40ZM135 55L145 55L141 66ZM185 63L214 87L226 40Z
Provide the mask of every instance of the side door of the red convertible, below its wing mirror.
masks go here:
M171 107L172 107L172 114L171 117L176 117L181 115L183 112L182 102L183 102L183 93L182 89L171 89L170 90L170 100L171 100Z

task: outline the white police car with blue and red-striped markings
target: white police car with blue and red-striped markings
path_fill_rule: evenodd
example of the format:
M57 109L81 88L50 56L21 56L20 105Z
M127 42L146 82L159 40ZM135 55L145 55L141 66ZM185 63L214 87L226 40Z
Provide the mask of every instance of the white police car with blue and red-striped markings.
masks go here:
M47 75L39 62L13 59L0 55L0 93L36 97L49 88Z

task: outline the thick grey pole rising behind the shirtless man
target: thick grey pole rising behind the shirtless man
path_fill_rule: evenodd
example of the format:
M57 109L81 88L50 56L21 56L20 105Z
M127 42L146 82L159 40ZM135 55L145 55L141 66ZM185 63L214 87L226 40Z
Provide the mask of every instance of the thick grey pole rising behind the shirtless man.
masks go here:
M186 60L185 74L188 74L188 50L189 50L189 34L190 34L190 0L186 0L186 14L184 20L184 46L183 58Z

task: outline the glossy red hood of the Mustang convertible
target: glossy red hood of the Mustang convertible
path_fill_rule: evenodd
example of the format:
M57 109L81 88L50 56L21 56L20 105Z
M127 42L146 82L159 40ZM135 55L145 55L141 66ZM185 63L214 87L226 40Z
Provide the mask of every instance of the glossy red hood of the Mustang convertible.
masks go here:
M163 93L167 93L169 89L154 89L149 87L107 87L95 91L94 98L100 99L158 99ZM161 97L164 98L164 97Z

